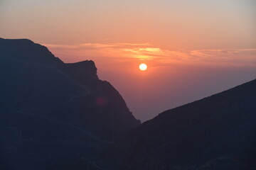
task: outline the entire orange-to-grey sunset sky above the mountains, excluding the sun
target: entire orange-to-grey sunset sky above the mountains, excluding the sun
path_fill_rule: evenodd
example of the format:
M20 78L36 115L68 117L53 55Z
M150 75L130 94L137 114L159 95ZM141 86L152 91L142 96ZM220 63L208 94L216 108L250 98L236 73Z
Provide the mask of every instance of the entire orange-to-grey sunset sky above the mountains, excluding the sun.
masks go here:
M0 0L1 38L95 61L142 121L255 79L255 30L255 0Z

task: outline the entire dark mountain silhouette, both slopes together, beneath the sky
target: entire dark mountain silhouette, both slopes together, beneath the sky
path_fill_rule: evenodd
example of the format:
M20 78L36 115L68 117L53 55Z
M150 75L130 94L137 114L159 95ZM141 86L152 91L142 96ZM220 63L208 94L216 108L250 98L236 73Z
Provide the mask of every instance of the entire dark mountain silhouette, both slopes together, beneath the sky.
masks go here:
M256 169L256 80L140 123L92 61L0 38L0 169Z

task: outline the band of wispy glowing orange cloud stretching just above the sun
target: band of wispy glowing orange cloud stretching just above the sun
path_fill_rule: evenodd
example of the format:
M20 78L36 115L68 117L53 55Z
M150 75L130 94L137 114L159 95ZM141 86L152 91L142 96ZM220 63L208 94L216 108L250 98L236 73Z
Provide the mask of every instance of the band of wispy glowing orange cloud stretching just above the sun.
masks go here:
M80 45L45 44L55 55L70 62L98 57L114 60L154 60L165 64L235 64L256 66L256 48L212 50L163 50L149 43L82 43ZM92 59L93 60L93 59Z

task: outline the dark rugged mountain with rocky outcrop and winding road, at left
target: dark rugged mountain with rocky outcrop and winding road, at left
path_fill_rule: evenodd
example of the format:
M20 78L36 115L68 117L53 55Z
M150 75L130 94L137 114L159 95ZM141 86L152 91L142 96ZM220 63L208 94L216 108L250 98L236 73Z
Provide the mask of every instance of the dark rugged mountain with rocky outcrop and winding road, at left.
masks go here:
M31 40L0 38L0 79L0 169L97 169L97 152L141 124L94 62L66 64Z

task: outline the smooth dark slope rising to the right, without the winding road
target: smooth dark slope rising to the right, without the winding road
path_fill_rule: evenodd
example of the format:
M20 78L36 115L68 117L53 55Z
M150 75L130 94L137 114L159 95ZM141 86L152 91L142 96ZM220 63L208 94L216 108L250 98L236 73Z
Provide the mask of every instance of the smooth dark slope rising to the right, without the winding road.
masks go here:
M104 169L256 169L256 80L164 111L105 149Z

